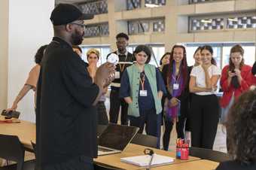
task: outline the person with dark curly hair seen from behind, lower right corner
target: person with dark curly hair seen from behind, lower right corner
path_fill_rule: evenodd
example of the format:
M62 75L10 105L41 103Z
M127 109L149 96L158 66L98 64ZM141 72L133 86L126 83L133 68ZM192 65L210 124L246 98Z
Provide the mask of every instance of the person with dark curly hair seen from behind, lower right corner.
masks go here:
M248 90L234 102L227 115L229 153L233 160L216 170L256 169L256 90Z

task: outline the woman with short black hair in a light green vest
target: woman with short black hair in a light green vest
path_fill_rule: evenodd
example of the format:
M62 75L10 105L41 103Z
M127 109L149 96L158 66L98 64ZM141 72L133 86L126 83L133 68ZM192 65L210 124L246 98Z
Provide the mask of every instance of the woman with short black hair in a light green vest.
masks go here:
M158 138L160 147L161 99L166 93L160 71L148 64L151 60L151 50L145 45L139 45L134 51L136 64L126 68L121 78L120 98L128 103L130 126L139 127L139 133L145 131L148 135Z

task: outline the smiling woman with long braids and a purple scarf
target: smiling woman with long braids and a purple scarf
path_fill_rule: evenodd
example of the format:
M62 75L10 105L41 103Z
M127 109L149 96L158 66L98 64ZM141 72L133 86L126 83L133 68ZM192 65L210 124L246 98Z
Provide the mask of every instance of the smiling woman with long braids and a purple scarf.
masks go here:
M184 138L184 123L188 107L188 74L185 47L175 45L169 59L169 64L163 67L163 80L167 89L167 107L164 115L165 131L163 134L163 149L168 150L172 126L176 123L178 138Z

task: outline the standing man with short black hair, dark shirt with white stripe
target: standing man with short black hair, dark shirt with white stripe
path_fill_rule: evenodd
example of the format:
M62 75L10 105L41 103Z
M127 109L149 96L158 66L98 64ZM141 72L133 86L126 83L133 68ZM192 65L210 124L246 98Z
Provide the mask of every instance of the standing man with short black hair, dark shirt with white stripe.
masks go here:
M114 51L114 53L117 54L117 56L119 57L119 62L116 67L115 79L111 83L109 122L117 123L119 110L121 106L121 124L127 125L128 104L124 102L123 99L119 98L120 80L126 67L133 65L134 57L132 53L129 53L126 50L129 41L128 35L121 32L117 34L116 39L117 51ZM108 56L109 55L110 54L108 54Z

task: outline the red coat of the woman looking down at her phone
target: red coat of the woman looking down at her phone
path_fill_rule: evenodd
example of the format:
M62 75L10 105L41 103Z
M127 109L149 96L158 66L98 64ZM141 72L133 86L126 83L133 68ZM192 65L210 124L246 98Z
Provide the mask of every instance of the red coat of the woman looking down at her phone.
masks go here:
M241 69L242 82L238 89L235 89L232 84L227 85L228 67L226 65L221 72L221 89L223 90L223 96L221 98L221 107L226 108L230 103L232 94L234 93L235 99L241 95L242 92L248 90L252 83L251 66L243 65Z

